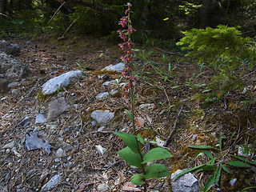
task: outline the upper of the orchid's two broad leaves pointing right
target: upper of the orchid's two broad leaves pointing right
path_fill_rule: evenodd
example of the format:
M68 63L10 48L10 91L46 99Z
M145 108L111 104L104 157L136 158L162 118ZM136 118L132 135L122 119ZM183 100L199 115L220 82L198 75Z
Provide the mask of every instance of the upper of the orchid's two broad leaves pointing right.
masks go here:
M170 157L173 157L173 155L170 154L168 150L157 147L145 154L142 164L146 162L152 162L154 160L159 160L162 158L170 158Z

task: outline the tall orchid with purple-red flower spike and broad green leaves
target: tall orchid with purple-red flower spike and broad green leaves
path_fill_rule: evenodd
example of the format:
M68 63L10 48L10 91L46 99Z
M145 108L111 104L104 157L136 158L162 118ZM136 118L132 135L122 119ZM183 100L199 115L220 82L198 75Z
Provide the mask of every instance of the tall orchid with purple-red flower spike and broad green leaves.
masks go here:
M131 182L135 186L144 186L143 191L146 192L147 179L151 178L163 178L169 176L169 171L166 166L162 164L154 163L147 166L147 162L152 162L155 160L170 158L173 155L170 154L167 150L160 147L149 150L146 154L142 152L142 146L145 146L145 142L141 134L136 133L136 127L134 122L134 85L136 77L134 75L134 53L132 47L134 42L131 41L131 34L134 33L134 28L131 25L130 20L130 7L132 6L130 2L127 3L128 9L126 10L126 16L122 17L119 21L119 25L122 26L123 30L118 30L119 37L122 38L122 43L118 44L121 49L124 51L125 55L122 56L122 62L126 63L122 74L124 78L127 79L126 84L123 86L124 97L130 99L131 102L131 113L129 110L126 110L132 122L134 134L128 134L126 132L117 132L115 133L118 137L122 138L123 142L126 144L126 148L119 150L119 154L130 166L135 166L141 169L141 173L134 174L131 178Z

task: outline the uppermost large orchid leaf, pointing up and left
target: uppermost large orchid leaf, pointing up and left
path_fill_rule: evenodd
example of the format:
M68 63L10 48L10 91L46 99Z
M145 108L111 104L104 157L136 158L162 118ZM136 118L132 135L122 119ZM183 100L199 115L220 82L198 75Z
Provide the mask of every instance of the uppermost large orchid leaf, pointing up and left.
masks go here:
M122 141L125 142L126 146L128 146L131 150L137 154L139 153L141 147L137 146L137 139L134 135L127 134L126 132L116 132L114 134L118 135L119 138L122 138Z

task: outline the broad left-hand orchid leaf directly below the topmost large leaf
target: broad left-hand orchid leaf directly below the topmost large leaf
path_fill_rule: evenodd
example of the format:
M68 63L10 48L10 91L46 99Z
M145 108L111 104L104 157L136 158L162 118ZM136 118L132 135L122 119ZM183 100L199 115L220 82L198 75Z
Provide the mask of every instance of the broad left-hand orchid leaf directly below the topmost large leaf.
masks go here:
M142 158L139 154L134 153L128 146L119 150L118 153L130 166L136 166L142 169Z

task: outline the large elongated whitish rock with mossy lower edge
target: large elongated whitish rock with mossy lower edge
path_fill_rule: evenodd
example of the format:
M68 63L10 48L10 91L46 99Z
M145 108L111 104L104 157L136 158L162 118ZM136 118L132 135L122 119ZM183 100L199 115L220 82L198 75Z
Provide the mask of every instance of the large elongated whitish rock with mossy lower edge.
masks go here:
M61 74L58 77L51 78L48 82L42 85L42 94L54 94L57 90L78 81L84 77L82 70L72 70L66 74Z

